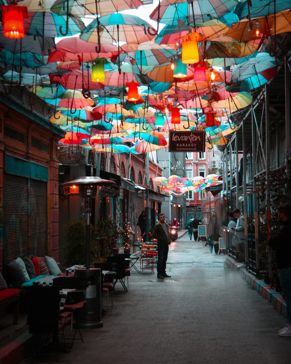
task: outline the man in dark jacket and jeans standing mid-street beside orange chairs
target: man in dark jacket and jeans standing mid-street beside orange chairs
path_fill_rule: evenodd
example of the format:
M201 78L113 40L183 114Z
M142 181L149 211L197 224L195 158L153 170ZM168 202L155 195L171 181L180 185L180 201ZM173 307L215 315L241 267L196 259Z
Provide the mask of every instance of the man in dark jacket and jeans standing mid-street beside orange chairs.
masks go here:
M158 240L158 278L170 278L171 276L168 276L168 274L166 273L166 262L168 258L169 245L171 244L171 238L168 224L165 222L164 214L159 214L159 221L154 226L152 238Z

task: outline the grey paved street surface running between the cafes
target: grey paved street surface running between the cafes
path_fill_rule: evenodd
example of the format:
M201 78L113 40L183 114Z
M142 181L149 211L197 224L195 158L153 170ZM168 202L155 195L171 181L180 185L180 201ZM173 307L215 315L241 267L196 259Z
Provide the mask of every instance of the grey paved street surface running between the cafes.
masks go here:
M167 273L171 278L157 280L156 273L133 271L129 292L114 292L114 309L103 316L104 327L82 330L84 343L75 341L59 361L290 364L291 338L277 333L286 320L228 268L223 254L211 254L203 242L185 234L170 246ZM55 358L56 353L48 353L28 362Z

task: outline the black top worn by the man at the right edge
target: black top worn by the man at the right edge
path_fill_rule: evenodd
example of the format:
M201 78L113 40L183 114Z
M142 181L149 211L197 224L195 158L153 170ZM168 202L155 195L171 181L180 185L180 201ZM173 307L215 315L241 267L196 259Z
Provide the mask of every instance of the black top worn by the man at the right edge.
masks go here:
M291 268L291 219L283 222L282 230L270 238L268 245L275 250L278 268Z

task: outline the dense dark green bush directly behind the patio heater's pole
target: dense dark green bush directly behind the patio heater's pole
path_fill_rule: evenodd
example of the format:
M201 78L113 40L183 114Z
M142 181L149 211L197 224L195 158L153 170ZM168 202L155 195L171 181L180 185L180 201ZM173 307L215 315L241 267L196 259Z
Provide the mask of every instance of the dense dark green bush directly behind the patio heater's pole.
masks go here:
M64 225L67 245L61 248L65 252L65 264L67 267L86 264L86 224L84 221L69 221ZM90 265L97 260L96 241L94 228L90 225Z

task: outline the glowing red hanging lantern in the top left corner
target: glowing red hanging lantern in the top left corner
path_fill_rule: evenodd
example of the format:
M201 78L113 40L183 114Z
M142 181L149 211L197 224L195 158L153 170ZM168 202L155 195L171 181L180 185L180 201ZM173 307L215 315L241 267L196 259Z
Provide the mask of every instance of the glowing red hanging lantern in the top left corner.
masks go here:
M19 39L24 37L23 18L28 18L27 7L1 5L3 34L7 38Z

